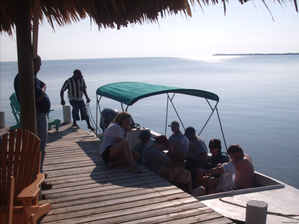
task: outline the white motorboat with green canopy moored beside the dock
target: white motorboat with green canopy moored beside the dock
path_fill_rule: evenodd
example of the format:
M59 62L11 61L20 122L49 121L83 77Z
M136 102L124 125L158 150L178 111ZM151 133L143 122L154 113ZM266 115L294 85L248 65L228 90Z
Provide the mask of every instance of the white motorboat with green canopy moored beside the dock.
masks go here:
M199 97L203 99L208 104L211 112L207 117L207 121L204 123L201 131L198 135L202 133L213 113L216 111L217 118L219 121L219 126L225 143L225 148L227 150L227 145L225 142L225 137L222 130L222 125L220 122L220 116L217 109L219 102L219 97L215 93L211 93L204 90L197 89L186 89L177 88L164 85L154 85L142 82L116 82L99 87L96 91L97 95L97 124L98 116L100 115L100 126L102 131L105 131L105 125L109 125L113 116L109 115L109 121L105 116L103 116L103 111L100 107L100 102L103 98L112 99L119 102L122 111L128 111L128 108L134 105L141 99L145 99L151 96L164 95L167 96L167 109L166 109L166 119L165 119L165 133L167 127L167 115L169 105L172 105L179 121L182 123L179 113L177 112L173 99L179 95L184 94L190 97ZM99 113L98 113L99 112ZM112 109L112 114L117 114L117 111ZM130 112L130 111L128 111ZM183 126L184 127L184 126ZM132 131L129 132L127 139L134 146L138 143L138 133L142 130L150 130L153 138L160 135L156 133L151 128L140 127L138 123L133 122ZM96 129L97 136L101 139L103 134L99 134L100 130ZM210 155L209 155L210 157ZM219 199L220 198L220 199ZM299 214L299 190L289 186L283 182L276 179L268 177L266 175L260 174L255 171L254 175L254 188L244 189L239 191L232 191L219 194L205 195L202 197L197 197L197 199L206 205L208 205L213 210L219 212L225 217L228 217L235 221L245 222L246 214L246 203L250 200L264 201L268 203L268 214L267 223L283 223L292 222L298 223L299 216L293 216ZM270 214L271 213L271 214Z

